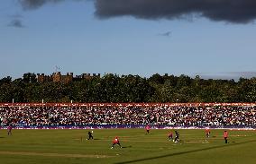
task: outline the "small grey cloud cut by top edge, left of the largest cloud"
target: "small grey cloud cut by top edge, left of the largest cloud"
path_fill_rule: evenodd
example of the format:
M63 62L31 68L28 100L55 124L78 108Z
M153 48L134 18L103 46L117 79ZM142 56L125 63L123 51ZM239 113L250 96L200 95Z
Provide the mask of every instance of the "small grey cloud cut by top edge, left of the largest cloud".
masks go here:
M41 7L43 4L48 3L59 3L63 2L65 0L19 0L19 2L22 4L23 9L37 9Z

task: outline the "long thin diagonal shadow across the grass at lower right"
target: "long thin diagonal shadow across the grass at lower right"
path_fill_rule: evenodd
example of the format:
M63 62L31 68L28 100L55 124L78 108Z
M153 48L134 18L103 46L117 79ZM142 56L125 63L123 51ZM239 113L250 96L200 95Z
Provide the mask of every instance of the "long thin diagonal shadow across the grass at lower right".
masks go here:
M166 154L166 155L161 155L161 156L156 156L156 157L151 157L151 158L145 158L145 159L139 159L139 160L128 160L128 161L123 161L123 162L117 162L115 164L126 164L126 163L140 162L140 161L145 161L145 160L156 160L156 159L178 156L178 155L188 154L188 153L193 153L193 152L198 152L198 151L207 151L207 150L213 150L213 149L218 149L218 148L223 148L223 147L231 147L231 146L244 144L244 143L248 143L248 142L256 142L256 140L251 140L251 141L247 141L247 142L228 143L228 144L224 143L224 145L220 145L220 146L213 146L213 147L197 149L197 150L193 150L193 151L175 152L175 153L171 153L171 154Z

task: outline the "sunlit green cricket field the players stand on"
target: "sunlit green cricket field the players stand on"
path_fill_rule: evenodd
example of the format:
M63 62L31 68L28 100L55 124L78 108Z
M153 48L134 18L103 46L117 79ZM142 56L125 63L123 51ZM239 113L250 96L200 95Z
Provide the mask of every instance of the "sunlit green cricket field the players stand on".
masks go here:
M181 142L169 142L170 130L95 129L95 140L87 141L87 130L0 130L0 163L175 163L255 164L256 132L178 130ZM172 132L174 132L172 130ZM110 149L114 136L123 146Z

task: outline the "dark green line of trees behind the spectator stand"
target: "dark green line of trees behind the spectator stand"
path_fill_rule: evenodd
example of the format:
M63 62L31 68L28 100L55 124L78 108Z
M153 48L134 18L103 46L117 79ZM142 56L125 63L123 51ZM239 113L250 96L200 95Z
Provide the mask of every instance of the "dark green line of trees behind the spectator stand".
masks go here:
M0 102L255 102L256 78L201 79L198 75L105 74L80 81L37 82L34 73L0 80Z

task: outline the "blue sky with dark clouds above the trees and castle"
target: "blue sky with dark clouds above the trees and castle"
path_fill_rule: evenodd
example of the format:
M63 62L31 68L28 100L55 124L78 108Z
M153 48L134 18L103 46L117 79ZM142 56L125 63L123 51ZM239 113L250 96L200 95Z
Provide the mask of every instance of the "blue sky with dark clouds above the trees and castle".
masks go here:
M0 78L256 76L254 0L1 0Z

